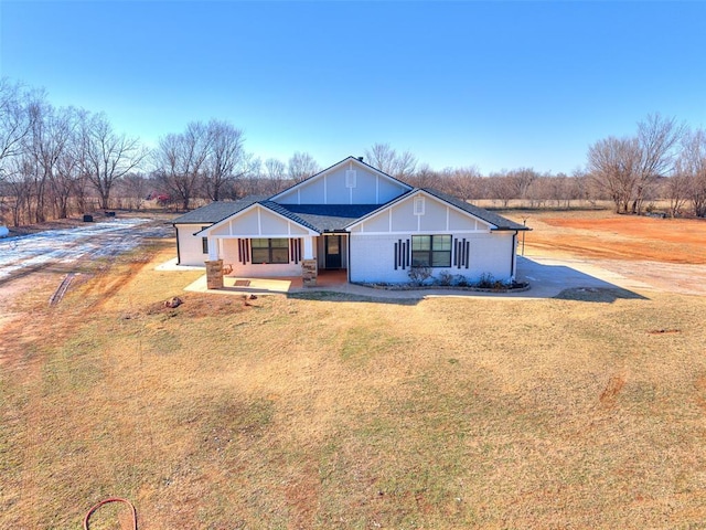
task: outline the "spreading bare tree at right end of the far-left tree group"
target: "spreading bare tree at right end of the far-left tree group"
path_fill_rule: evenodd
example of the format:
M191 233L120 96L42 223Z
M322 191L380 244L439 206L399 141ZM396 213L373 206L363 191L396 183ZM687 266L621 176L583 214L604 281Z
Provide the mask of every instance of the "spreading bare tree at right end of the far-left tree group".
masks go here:
M110 190L115 183L135 170L148 155L138 138L115 132L103 113L84 116L82 149L84 170L98 192L103 209L110 208Z

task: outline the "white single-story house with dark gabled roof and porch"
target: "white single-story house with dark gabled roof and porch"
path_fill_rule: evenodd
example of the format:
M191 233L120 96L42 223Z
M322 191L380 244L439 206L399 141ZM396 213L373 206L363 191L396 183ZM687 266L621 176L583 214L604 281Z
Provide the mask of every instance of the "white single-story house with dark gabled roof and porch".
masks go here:
M173 221L180 265L222 261L239 277L345 269L407 283L411 267L513 280L524 225L349 157L271 197L213 202Z

